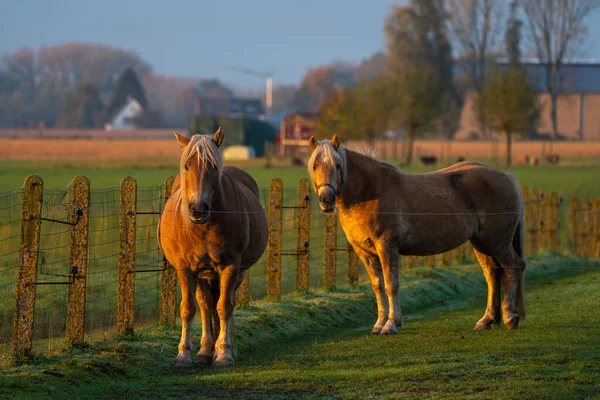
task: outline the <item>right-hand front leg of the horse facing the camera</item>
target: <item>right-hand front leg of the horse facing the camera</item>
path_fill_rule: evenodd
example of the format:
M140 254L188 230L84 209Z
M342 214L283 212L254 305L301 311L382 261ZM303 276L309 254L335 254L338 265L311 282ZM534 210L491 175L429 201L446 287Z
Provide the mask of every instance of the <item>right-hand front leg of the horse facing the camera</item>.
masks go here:
M235 328L233 326L233 309L235 307L235 290L238 286L238 277L241 274L238 265L223 267L219 272L219 314L220 330L215 345L215 365L233 365L233 343Z

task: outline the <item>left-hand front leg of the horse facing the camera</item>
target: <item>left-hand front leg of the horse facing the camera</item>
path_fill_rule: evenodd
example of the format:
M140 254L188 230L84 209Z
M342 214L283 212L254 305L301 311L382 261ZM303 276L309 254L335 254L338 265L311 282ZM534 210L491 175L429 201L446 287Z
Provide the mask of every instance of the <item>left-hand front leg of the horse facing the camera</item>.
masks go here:
M189 268L177 269L179 286L181 287L181 304L179 313L181 315L181 340L179 341L179 353L175 358L176 367L189 367L192 365L192 320L196 315L196 304L194 292L196 291L196 274Z

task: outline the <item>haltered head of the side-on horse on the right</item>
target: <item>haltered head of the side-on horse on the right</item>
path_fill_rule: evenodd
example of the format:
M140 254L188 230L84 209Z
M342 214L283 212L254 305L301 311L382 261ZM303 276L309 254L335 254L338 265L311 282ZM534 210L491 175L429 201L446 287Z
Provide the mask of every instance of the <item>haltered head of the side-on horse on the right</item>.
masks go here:
M310 138L312 154L308 160L308 173L319 196L319 206L326 213L335 208L335 198L346 180L346 153L338 135L331 140L317 142Z

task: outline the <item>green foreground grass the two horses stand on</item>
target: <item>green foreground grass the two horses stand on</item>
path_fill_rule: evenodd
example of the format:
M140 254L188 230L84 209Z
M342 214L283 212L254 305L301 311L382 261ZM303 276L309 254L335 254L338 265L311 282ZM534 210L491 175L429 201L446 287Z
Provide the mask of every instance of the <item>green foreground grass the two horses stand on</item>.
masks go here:
M166 329L0 367L0 397L598 397L598 267L530 260L528 320L517 331L472 330L485 303L477 268L417 269L403 276L396 336L368 335L367 287L313 294L237 310L234 368L175 370L179 332Z

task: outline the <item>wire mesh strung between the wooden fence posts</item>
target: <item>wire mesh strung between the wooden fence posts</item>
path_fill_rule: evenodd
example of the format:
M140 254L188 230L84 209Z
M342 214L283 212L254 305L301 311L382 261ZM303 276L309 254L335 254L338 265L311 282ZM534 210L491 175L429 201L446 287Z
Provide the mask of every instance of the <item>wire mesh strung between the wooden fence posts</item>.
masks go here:
M260 188L260 201L269 213L269 188ZM534 191L535 192L535 191ZM536 192L537 193L537 192ZM557 230L549 232L544 227L540 209L540 194L534 193L525 205L527 255L540 250L542 240L556 235L557 249L572 252L579 246L585 255L592 255L593 239L598 235L598 210L591 209L591 202L579 203L573 211L568 201L557 208L544 212L556 214ZM281 209L281 294L293 293L296 289L296 266L298 256L298 189L283 190ZM0 193L0 345L12 339L15 307L15 287L19 265L21 239L22 189ZM136 245L135 245L135 311L134 322L144 329L156 326L160 313L160 284L163 255L158 247L156 227L165 205L164 186L139 187L137 189ZM585 204L584 204L585 203ZM34 351L45 352L59 348L64 343L67 294L69 285L70 225L67 222L72 212L70 187L64 190L44 190L38 286L34 310ZM88 273L86 289L85 333L115 331L118 301L118 262L120 243L120 188L90 191ZM403 214L401 212L397 214ZM430 214L428 214L430 215ZM54 221L52 221L54 220ZM573 226L577 227L573 231ZM583 228L582 228L583 227ZM580 229L582 228L582 229ZM586 230L587 229L587 230ZM589 231L589 232L588 232ZM336 287L348 285L348 242L337 222L336 234ZM546 235L546 236L544 236ZM548 246L548 243L545 243ZM316 195L311 191L309 289L325 285L325 216L319 208ZM595 251L598 251L596 249ZM267 254L250 269L250 296L252 300L266 297ZM580 253L577 253L580 254ZM582 253L583 254L583 253ZM596 255L597 256L597 255ZM440 266L474 261L470 244L453 252L432 257L402 257L403 268L417 266ZM368 282L364 268L359 268L359 282ZM54 283L54 284L48 284ZM177 289L177 304L181 293ZM178 315L178 313L177 313Z

